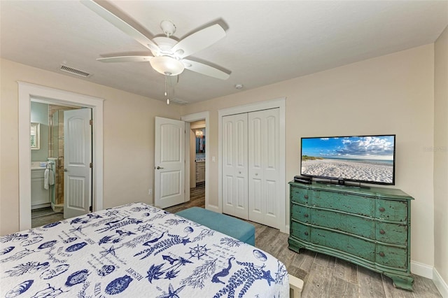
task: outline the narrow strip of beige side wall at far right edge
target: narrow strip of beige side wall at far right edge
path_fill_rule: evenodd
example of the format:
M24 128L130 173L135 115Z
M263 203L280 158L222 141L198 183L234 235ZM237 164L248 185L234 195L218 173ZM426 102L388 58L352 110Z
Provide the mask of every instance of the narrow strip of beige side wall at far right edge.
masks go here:
M448 281L448 27L435 42L434 267Z

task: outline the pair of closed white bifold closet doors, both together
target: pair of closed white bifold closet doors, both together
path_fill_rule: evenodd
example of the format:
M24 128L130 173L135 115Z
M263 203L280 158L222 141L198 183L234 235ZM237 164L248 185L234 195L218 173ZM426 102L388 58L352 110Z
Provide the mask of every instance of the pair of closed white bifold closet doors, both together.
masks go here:
M279 108L223 117L223 213L278 228Z

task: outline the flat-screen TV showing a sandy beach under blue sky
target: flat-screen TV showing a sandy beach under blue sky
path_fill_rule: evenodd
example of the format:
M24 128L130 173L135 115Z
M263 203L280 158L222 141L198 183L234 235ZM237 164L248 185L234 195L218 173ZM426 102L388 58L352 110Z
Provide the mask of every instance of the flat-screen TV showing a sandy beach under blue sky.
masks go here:
M394 136L302 139L302 175L393 183Z

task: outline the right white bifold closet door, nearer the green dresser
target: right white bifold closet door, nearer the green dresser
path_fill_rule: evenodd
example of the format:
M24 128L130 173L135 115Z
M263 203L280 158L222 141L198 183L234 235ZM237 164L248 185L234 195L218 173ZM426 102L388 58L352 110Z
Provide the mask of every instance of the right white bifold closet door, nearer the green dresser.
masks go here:
M248 219L279 227L279 108L248 113Z

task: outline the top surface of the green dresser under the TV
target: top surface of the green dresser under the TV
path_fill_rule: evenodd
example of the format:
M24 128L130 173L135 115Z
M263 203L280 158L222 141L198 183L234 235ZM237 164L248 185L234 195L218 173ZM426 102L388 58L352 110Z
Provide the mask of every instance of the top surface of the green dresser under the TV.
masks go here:
M289 182L290 185L294 185L304 189L311 190L324 190L327 192L342 192L345 194L356 194L361 196L372 196L372 197L385 197L388 199L414 199L409 196L409 194L399 190L398 188L389 188L389 187L377 187L370 186L367 188L364 187L356 187L356 186L348 186L348 185L336 185L329 183L316 183L313 181L311 184L297 183L294 181Z

